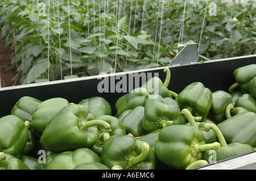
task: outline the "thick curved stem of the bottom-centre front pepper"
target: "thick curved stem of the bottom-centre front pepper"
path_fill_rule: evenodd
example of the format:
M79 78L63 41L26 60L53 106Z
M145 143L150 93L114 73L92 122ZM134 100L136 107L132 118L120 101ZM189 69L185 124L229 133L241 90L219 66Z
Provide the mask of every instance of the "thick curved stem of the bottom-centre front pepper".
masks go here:
M147 158L149 151L150 151L150 145L148 145L147 142L143 142L141 144L141 154L138 155L137 157L134 157L134 156L130 157L127 161L127 165L129 167L133 167L134 165L137 165L143 162L144 159Z

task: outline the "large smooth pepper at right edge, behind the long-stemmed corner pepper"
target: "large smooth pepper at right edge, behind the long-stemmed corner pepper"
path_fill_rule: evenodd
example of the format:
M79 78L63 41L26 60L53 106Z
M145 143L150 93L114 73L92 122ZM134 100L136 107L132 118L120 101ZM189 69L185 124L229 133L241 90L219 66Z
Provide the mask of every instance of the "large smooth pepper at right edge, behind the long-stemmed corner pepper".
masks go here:
M240 142L256 146L256 113L241 112L222 121L217 126L228 144Z

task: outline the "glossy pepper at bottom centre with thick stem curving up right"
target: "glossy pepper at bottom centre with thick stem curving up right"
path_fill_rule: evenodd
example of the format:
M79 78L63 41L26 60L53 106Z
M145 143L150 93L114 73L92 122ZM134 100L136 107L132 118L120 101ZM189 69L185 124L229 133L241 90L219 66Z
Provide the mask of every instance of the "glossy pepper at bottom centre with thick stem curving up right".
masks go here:
M155 153L147 142L133 136L114 135L104 144L101 161L112 169L121 166L123 170L155 169Z

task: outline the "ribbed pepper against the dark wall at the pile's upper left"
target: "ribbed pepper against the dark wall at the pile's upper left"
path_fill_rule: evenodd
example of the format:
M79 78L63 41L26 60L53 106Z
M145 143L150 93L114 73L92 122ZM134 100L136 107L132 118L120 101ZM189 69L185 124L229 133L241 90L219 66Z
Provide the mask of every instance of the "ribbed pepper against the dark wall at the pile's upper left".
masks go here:
M11 115L18 116L23 121L30 121L31 116L35 112L36 106L40 103L42 103L41 100L31 96L23 96L11 109Z

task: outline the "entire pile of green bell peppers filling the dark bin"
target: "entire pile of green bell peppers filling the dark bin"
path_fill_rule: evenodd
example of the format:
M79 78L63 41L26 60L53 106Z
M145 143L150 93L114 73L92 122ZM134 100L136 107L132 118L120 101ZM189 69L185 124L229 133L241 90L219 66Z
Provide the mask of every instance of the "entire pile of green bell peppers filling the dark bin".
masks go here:
M0 118L0 169L188 170L256 148L255 64L217 91L191 82L174 92L163 71L114 105L23 96Z

